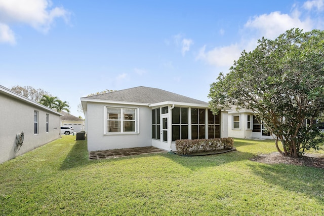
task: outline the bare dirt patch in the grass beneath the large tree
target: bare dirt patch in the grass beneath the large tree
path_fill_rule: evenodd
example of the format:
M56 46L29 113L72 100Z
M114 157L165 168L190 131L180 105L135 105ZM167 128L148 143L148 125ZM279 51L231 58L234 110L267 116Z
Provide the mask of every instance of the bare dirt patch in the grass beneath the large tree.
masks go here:
M324 169L324 156L318 154L307 154L300 158L291 158L281 155L278 152L270 154L261 154L250 159L251 161L266 163L266 164L292 164L303 165L309 167L317 167Z

